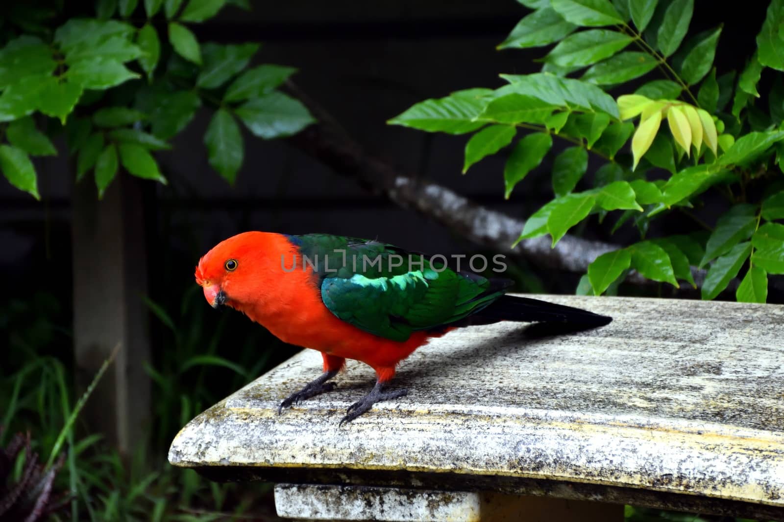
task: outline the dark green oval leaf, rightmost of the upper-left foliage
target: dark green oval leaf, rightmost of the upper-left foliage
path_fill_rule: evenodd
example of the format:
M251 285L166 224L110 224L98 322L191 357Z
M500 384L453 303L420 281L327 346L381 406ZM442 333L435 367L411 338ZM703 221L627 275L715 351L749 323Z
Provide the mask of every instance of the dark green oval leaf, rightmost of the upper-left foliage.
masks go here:
M281 92L270 92L251 99L234 113L254 135L262 139L295 135L315 122L302 103Z

